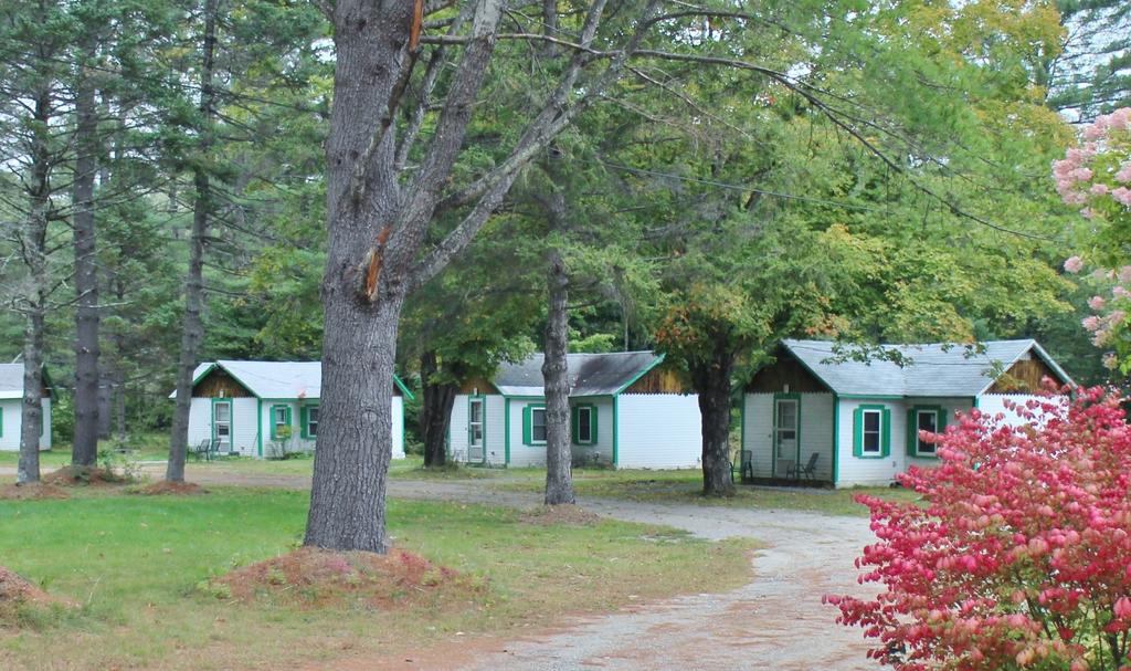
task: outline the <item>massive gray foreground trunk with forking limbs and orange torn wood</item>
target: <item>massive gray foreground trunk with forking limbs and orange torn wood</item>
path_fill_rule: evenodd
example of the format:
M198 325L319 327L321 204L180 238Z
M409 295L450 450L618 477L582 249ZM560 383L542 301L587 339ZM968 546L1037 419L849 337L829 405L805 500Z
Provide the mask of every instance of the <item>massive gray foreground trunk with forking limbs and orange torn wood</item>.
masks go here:
M470 242L521 169L569 126L585 101L616 78L627 59L614 58L601 79L586 87L581 101L573 101L578 75L589 62L587 54L576 54L510 157L442 208L451 212L469 206L459 224L422 257L429 223L439 210L442 191L450 187L452 166L477 107L503 5L503 0L468 5L474 7L474 16L459 41L463 53L450 76L447 97L426 150L402 188L397 156L407 156L408 147L397 150L397 124L391 120L416 62L416 53L408 48L414 5L369 0L334 3L334 106L326 146L329 242L322 277L322 424L314 451L308 545L385 551L385 480L391 450L389 379L405 295L434 277ZM656 5L653 0L645 15L650 17ZM604 0L589 7L581 44L593 43L604 7ZM631 49L639 37L638 32ZM416 136L409 132L406 137Z

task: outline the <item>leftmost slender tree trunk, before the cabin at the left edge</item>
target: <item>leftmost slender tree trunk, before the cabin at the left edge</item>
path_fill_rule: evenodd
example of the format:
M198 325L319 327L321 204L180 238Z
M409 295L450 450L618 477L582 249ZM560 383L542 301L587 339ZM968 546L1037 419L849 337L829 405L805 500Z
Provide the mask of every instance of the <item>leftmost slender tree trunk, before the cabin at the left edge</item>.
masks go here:
M51 120L51 91L44 86L35 98L32 180L28 190L28 217L23 255L27 265L27 291L24 332L24 399L19 432L19 464L16 482L40 481L40 428L43 422L43 342L48 309L48 210L51 207L51 154L48 128Z

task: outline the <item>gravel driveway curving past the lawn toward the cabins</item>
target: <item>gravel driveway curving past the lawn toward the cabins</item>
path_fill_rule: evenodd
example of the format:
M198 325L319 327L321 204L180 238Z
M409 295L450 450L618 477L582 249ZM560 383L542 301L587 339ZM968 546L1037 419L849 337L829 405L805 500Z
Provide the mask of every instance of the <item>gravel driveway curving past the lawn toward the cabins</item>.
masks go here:
M308 475L219 473L192 468L200 484L305 489ZM536 493L503 492L491 481L390 480L395 498L457 500L527 507ZM867 521L791 510L702 508L585 499L595 513L688 530L706 539L751 536L770 543L753 561L751 583L724 594L698 594L563 622L554 630L503 639L454 639L413 659L347 659L335 669L460 669L551 671L566 669L778 669L874 670L858 629L834 621L827 593L860 593L853 559L874 540ZM631 579L631 576L625 576Z

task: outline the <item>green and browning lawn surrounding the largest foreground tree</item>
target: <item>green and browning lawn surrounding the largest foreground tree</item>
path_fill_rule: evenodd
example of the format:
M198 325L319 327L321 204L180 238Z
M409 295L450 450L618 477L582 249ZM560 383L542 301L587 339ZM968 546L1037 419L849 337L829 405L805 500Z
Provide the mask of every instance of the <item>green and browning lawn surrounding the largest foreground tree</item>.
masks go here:
M399 653L456 631L507 633L636 599L722 591L749 575L750 542L602 522L541 526L513 510L390 501L395 545L487 580L467 608L396 614L239 604L196 588L296 545L308 496L219 489L205 497L105 490L0 501L0 564L84 604L61 621L0 629L0 669L277 668ZM661 541L661 542L657 542Z

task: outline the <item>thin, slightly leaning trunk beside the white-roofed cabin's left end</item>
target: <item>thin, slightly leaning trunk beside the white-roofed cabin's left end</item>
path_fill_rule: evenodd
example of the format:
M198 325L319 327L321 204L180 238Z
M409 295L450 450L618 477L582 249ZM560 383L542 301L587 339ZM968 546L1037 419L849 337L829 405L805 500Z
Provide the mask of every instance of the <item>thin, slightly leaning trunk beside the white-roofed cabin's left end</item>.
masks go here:
M216 53L216 3L205 0L204 53L200 69L200 114L201 124L199 150L201 157L211 152L211 122L215 91L213 68ZM173 432L169 444L169 466L165 480L184 481L184 458L189 445L189 410L192 405L192 371L205 332L201 322L204 310L205 278L204 253L211 214L211 184L208 172L200 161L193 169L192 183L196 195L192 201L192 234L189 238L189 277L184 290L184 315L181 318L181 355L176 370L176 407L173 412Z

